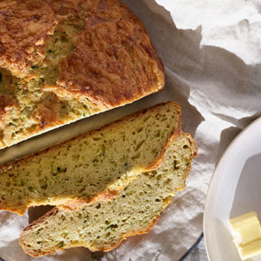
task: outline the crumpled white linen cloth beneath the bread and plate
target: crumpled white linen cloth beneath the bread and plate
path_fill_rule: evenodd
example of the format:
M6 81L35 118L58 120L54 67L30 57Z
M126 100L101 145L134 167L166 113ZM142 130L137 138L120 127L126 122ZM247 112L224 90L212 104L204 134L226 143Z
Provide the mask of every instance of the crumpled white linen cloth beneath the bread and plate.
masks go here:
M27 155L152 104L173 100L183 130L198 145L187 188L149 234L129 238L99 260L179 260L203 232L203 205L219 157L242 128L261 115L261 2L257 0L125 0L142 19L165 65L165 90L134 104L84 119L0 151L0 163ZM163 6L161 6L161 5ZM170 12L168 12L170 11ZM0 180L1 181L1 180ZM32 211L29 215L32 219ZM28 224L0 212L0 257L34 260L18 239ZM37 260L91 260L88 249L67 249Z

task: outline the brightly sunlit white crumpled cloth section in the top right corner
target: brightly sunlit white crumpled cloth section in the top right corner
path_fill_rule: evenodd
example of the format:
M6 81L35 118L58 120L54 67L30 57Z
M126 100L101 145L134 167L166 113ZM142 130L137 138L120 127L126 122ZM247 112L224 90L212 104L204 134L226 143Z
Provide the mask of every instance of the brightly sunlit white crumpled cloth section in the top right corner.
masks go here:
M248 64L261 61L261 2L258 0L157 0L179 29L202 28L201 46L233 52Z

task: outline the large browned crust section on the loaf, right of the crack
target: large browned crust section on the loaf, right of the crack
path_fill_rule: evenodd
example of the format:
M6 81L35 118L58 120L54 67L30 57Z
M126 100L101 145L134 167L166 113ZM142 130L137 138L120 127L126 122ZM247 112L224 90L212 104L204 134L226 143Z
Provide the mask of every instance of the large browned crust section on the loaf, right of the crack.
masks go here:
M164 85L163 65L141 20L115 2L96 5L75 50L59 64L58 79L73 95L109 108Z

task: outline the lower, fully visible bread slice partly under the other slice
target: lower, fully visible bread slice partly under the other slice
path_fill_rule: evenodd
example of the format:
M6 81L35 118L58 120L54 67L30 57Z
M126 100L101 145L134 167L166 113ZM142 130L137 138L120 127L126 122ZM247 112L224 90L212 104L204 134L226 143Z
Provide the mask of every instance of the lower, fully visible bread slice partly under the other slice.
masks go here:
M181 134L166 151L163 164L141 173L119 196L79 211L54 208L27 226L19 243L27 254L39 257L78 246L107 251L130 235L147 233L175 193L185 188L195 156L196 142Z

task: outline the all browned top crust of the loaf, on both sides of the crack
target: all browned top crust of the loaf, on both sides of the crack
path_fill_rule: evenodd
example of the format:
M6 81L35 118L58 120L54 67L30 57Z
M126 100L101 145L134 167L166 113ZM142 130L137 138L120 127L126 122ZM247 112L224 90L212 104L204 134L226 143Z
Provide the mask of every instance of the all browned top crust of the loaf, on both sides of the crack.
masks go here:
M41 78L41 72L32 68L51 64L50 35L70 19L82 21L79 31L69 35L74 37L69 40L71 50L56 57L55 82L43 86L58 96L84 96L99 106L113 107L164 85L157 52L141 20L126 4L17 0L0 3L0 10L0 66L19 78L35 74Z

